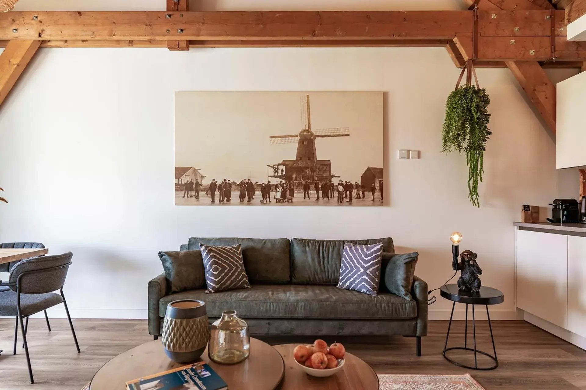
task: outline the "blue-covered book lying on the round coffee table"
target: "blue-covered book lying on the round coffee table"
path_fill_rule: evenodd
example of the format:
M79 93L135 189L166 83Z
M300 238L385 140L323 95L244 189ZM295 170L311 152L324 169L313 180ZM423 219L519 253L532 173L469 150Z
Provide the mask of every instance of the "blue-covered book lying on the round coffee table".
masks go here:
M127 390L227 390L228 385L203 361L126 382Z

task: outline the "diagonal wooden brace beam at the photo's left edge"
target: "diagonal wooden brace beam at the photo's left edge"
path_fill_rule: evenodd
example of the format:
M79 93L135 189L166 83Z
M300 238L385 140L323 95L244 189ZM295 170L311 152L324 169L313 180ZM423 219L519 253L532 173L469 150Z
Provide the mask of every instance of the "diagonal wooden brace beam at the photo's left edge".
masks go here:
M0 54L0 105L39 48L38 40L13 40Z

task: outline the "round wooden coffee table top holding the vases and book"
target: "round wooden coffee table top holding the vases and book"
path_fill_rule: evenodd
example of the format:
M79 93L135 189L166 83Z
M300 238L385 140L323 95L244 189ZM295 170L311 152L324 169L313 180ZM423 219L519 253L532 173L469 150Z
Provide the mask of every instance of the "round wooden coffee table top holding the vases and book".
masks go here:
M250 356L234 365L217 364L207 357L202 360L210 365L226 381L230 390L274 390L284 375L281 355L267 343L250 339ZM166 357L161 340L149 341L132 348L104 364L94 378L89 390L124 390L126 382L146 377L185 364L175 363Z

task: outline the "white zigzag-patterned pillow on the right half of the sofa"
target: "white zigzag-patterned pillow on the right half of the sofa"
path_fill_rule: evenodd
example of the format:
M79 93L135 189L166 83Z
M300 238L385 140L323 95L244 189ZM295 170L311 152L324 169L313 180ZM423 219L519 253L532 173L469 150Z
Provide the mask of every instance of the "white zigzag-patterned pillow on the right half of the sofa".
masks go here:
M338 287L377 296L382 260L383 243L344 244Z

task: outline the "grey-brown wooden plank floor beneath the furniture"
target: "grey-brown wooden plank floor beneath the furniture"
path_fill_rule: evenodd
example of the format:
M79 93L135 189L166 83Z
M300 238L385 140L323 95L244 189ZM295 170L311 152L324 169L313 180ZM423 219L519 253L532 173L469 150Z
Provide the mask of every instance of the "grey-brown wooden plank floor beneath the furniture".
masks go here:
M20 344L16 356L12 355L14 320L0 319L0 349L4 350L0 356L1 390L80 390L110 358L152 340L146 320L74 320L81 347L81 353L77 354L67 320L54 319L51 325L53 332L49 333L45 320L30 320L28 343L36 380L30 385L25 353ZM477 325L478 348L490 351L488 325L486 322ZM415 339L411 338L338 337L337 341L369 363L378 374L464 374L469 371L486 390L586 390L586 351L526 322L495 321L493 328L500 363L494 371L469 371L444 360L441 352L446 321L430 323L420 358L415 357ZM464 322L452 325L452 335L451 346L463 343ZM331 337L325 339L334 341ZM264 340L271 344L313 341L298 337ZM469 362L472 363L473 358Z

